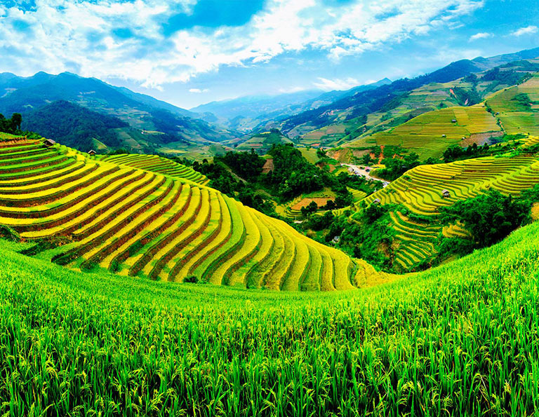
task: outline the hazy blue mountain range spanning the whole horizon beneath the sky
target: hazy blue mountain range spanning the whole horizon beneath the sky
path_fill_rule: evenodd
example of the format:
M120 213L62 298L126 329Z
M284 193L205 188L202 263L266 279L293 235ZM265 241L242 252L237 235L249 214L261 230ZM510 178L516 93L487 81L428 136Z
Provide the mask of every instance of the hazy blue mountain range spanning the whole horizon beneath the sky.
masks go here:
M380 117L395 117L387 112L399 107L403 97L418 88L432 83L441 86L470 74L535 57L539 57L539 48L460 60L416 78L397 81L384 78L345 91L246 96L190 110L67 72L58 75L39 72L30 77L3 73L0 74L0 113L8 117L14 112L21 113L24 128L61 139L81 150L108 151L121 147L134 152L208 158L276 128L296 143L305 142L302 138L310 135L304 144L335 146L357 137L367 118L374 126L383 122L378 121ZM460 93L473 95L474 92ZM456 104L462 104L459 100L465 101L466 97L458 98L455 93L453 99ZM446 105L455 105L451 100ZM412 112L403 117L417 116L428 109L418 105L406 110ZM373 114L378 116L373 119ZM365 128L361 129L364 133Z

